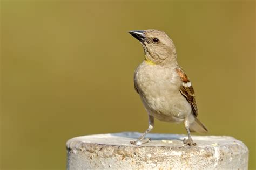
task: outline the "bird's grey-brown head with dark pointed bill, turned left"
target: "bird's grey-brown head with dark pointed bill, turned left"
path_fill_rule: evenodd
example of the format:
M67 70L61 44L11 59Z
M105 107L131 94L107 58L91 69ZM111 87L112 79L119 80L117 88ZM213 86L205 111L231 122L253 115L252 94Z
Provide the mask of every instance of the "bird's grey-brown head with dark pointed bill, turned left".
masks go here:
M163 31L137 30L129 33L140 41L145 52L145 60L152 63L172 63L176 61L173 41Z

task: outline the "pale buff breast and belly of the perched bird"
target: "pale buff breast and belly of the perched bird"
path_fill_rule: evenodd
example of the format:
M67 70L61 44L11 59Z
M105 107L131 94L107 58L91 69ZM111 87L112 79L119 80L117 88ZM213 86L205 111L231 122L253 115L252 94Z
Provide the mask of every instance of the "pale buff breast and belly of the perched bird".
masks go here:
M161 121L184 118L191 112L180 94L181 81L174 69L142 63L134 74L134 84L146 109Z

